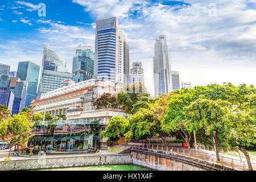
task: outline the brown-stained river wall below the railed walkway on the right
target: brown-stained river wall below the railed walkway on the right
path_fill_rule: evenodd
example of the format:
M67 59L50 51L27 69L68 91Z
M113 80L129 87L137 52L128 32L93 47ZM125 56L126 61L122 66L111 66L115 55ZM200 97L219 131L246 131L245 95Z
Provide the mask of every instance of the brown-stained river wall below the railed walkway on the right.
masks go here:
M158 171L229 171L231 168L224 168L212 163L191 159L187 156L158 151L131 149L133 164L155 169Z

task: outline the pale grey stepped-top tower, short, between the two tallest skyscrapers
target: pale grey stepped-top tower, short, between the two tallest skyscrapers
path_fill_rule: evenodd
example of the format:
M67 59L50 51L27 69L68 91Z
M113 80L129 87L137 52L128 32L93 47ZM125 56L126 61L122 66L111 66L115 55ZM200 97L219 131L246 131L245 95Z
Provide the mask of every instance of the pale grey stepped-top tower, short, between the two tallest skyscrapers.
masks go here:
M141 82L144 84L144 70L142 69L141 62L134 62L130 73L130 84Z

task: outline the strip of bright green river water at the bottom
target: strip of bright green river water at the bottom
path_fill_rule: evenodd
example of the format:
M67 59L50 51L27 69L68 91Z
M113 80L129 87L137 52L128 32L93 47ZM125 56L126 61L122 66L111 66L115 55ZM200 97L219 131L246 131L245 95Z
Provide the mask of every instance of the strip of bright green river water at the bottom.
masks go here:
M137 166L134 164L123 164L123 165L102 165L102 166L35 169L34 171L152 171L152 169Z

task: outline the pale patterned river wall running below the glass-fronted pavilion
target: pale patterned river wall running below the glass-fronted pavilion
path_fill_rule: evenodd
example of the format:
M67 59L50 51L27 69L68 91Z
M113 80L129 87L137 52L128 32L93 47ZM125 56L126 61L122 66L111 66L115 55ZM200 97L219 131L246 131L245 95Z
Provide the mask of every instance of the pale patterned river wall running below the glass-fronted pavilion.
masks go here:
M61 156L0 161L0 170L24 170L132 163L133 156L131 154Z

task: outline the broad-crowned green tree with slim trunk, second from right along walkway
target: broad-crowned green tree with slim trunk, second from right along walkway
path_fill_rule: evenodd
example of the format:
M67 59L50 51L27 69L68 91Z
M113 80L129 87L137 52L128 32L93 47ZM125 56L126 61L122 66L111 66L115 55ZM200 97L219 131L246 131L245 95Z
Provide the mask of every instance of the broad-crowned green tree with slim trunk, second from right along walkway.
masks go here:
M184 126L188 131L197 131L205 129L205 133L210 135L216 151L217 161L220 161L218 150L218 137L224 137L229 126L226 119L232 104L228 101L212 101L205 98L199 98L189 106L184 107L186 118Z

